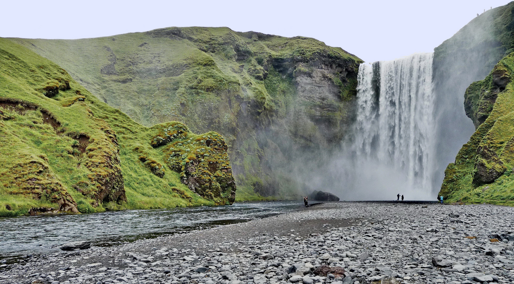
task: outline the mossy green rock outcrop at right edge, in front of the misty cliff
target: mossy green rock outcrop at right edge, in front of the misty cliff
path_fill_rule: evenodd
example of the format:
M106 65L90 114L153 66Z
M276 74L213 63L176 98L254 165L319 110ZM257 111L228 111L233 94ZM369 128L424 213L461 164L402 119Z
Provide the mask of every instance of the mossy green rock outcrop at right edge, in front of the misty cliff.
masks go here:
M514 205L513 72L511 53L466 91L467 112L477 128L445 171L439 195L448 202Z

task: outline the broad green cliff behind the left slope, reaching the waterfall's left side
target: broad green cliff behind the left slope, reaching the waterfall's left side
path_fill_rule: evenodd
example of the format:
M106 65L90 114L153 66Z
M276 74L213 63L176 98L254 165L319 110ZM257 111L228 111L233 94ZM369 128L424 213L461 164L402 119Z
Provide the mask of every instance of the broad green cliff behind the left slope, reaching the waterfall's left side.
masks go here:
M183 121L227 142L239 189L295 197L300 152L337 144L362 62L313 38L166 28L78 40L11 39L139 123Z

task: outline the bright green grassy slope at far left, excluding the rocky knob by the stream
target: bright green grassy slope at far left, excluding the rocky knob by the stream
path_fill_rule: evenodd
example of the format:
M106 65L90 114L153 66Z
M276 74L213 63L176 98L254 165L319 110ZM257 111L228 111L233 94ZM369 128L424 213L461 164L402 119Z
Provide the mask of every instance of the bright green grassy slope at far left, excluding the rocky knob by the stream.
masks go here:
M56 82L59 91L50 98L44 88ZM4 38L0 116L0 215L214 205L182 184L180 173L163 168L164 153L150 144L152 129ZM163 173L152 171L153 161Z

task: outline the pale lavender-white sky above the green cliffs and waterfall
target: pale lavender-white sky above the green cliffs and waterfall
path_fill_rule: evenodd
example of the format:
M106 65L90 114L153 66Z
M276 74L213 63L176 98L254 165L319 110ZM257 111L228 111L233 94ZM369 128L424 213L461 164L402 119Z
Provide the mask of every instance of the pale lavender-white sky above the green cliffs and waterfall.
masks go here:
M0 36L84 38L164 27L229 27L308 36L366 62L434 47L506 0L3 1Z

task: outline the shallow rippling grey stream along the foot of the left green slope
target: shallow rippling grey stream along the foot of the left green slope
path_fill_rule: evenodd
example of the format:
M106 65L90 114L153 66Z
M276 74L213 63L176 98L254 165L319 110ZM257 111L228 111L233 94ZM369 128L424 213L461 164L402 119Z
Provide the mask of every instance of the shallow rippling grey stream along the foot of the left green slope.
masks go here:
M296 210L299 201L234 203L158 210L0 218L0 259L59 252L58 246L89 240L112 246L219 225L235 224Z

